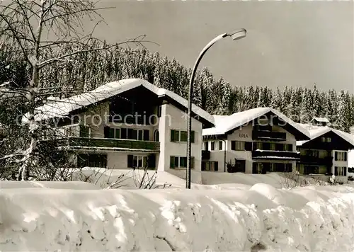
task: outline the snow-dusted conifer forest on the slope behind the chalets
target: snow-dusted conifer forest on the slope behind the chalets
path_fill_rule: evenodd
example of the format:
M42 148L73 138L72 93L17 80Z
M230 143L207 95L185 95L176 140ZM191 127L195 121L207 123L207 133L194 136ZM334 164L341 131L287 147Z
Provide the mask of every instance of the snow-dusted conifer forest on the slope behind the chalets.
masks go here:
M94 43L89 45L95 46ZM47 53L55 55L57 52L48 50ZM1 48L0 84L21 87L24 81L28 81L29 72L30 67L25 60L6 50L6 46ZM190 72L191 69L178 63L177 59L162 57L158 52L152 53L146 49L116 46L109 50L93 50L42 69L40 92L43 99L38 101L38 105L47 97L73 96L109 81L127 78L146 79L188 98ZM332 127L346 132L354 125L353 94L333 89L321 90L321 84L313 84L312 88L299 84L297 87L285 86L275 90L261 83L237 86L236 81L217 78L204 68L198 71L194 85L193 102L212 115L231 115L251 108L272 107L295 122L306 123L314 116L325 117ZM4 110L5 107L2 107ZM16 106L16 109L20 107Z

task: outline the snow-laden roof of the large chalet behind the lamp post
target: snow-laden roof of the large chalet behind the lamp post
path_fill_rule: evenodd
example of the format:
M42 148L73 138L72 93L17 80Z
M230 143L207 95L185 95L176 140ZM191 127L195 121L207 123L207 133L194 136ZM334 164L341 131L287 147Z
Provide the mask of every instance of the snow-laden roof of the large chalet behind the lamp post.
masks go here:
M39 108L36 108L37 115L35 120L47 120L50 118L64 118L69 115L74 110L79 108L84 108L93 103L97 103L99 101L103 101L112 96L116 96L125 91L129 91L133 88L137 88L138 86L144 86L149 91L152 91L156 94L156 96L169 96L174 101L180 103L185 108L188 108L188 101L185 98L178 96L178 94L168 91L164 88L158 88L153 84L145 81L143 79L122 79L120 81L113 81L103 86L100 86L93 91L89 91L86 93L81 93L77 96L72 96L69 98L64 98L59 101L52 101L50 103L46 103ZM197 105L192 105L192 111L196 115L200 116L214 125L214 118L212 115L207 113L202 108ZM23 122L28 122L26 117L23 118Z

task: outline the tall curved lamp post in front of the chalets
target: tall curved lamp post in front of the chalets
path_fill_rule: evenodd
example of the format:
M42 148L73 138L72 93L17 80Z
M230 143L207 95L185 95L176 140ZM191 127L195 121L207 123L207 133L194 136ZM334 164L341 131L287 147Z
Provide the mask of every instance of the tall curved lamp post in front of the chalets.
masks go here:
M187 127L187 174L185 176L185 188L190 189L190 161L191 161L191 142L190 134L192 132L192 96L193 96L193 82L195 77L195 72L197 71L198 64L202 57L205 55L205 52L215 44L215 42L221 40L222 38L231 37L232 40L239 40L246 37L246 29L236 30L232 33L223 33L211 40L200 52L200 55L197 61L194 64L192 74L190 75L189 81L189 95L188 95L188 127Z

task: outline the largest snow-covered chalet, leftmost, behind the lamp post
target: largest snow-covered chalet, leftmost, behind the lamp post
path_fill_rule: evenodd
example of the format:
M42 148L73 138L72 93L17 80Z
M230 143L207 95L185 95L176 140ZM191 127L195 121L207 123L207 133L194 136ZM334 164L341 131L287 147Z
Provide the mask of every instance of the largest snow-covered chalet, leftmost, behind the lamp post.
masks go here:
M59 147L72 151L75 166L178 173L186 167L187 105L164 88L124 79L45 103L35 120L58 119ZM192 110L192 168L200 171L202 129L215 125L205 110Z

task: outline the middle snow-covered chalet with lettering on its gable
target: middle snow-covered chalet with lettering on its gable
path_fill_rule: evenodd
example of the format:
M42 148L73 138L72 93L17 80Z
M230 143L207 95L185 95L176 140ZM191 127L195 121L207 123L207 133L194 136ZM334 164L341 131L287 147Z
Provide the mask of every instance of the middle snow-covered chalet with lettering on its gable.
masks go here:
M273 108L214 115L215 127L202 130L202 171L267 173L295 170L296 142L309 133Z

